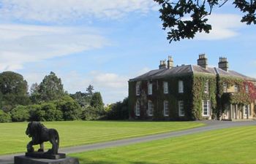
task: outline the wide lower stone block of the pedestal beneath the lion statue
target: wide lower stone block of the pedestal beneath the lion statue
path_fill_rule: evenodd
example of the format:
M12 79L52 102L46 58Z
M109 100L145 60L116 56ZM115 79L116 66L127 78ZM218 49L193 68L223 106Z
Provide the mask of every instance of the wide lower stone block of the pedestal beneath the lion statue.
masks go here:
M25 155L15 156L15 164L79 164L78 158L66 157L59 160L26 157Z

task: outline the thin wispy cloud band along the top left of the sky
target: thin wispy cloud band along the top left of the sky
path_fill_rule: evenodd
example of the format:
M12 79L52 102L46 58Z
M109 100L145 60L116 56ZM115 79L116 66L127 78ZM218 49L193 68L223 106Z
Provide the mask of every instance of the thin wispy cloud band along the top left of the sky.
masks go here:
M149 0L3 0L1 19L55 22L86 17L116 19L129 12L146 13L155 9Z

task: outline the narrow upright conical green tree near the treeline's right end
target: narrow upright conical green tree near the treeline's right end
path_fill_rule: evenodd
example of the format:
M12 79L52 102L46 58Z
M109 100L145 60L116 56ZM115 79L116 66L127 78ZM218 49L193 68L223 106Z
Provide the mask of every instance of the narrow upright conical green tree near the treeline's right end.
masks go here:
M94 93L92 95L91 106L94 107L95 109L97 109L99 116L104 113L104 104L102 101L102 95L99 92Z

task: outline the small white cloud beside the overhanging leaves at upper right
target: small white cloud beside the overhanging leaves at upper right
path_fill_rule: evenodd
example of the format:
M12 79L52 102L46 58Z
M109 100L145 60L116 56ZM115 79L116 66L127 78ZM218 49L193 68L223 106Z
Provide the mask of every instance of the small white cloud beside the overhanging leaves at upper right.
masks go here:
M217 40L228 39L238 36L238 30L244 26L241 21L241 15L214 14L208 16L208 23L212 30L209 34L197 34L195 39L199 40Z

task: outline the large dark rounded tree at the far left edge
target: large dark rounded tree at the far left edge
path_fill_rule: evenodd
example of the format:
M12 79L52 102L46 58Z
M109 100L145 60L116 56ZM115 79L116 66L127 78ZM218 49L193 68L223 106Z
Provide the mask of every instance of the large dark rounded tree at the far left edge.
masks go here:
M28 85L23 76L12 71L0 74L1 105L4 111L10 111L18 104L29 104Z

